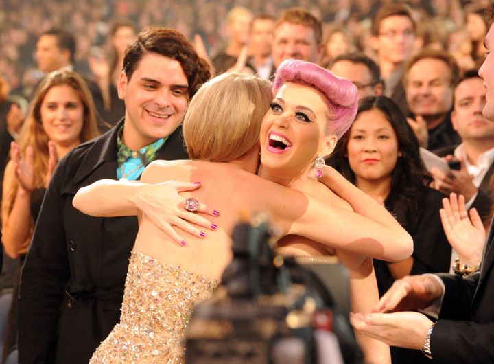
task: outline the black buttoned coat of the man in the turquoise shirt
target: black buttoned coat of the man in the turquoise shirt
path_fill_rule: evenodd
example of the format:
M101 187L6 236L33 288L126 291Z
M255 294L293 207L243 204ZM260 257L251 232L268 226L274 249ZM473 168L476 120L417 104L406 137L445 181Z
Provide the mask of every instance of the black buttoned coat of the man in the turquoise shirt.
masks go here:
M137 218L93 218L72 199L116 179L121 124L69 152L51 179L21 278L19 363L86 364L119 321ZM181 128L157 158L187 158Z

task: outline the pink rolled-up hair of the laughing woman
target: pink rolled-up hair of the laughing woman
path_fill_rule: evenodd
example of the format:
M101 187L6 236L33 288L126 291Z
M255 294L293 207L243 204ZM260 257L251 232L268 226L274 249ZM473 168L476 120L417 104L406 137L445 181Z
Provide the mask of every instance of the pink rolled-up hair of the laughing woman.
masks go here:
M322 94L329 112L326 134L340 139L355 119L358 107L358 91L355 84L331 71L303 60L284 60L277 68L273 83L273 95L286 82L313 87Z

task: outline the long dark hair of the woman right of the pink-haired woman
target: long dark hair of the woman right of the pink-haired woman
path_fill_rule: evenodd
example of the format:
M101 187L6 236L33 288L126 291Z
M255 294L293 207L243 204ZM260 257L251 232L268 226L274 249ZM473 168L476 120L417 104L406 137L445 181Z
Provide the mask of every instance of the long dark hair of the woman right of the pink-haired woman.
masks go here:
M402 155L392 171L391 190L384 203L399 223L407 229L416 224L419 203L432 178L427 174L420 159L419 142L397 104L385 96L363 98L359 102L355 119L364 111L373 109L386 115L397 136L398 150ZM327 163L355 184L355 174L350 168L347 153L350 132L351 128L340 139Z

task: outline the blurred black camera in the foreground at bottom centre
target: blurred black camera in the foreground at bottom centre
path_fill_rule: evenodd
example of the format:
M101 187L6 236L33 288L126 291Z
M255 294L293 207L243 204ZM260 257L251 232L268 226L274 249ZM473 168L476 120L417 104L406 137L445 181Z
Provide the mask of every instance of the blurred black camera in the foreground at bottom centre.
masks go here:
M336 362L362 363L348 321L333 310L322 281L272 250L266 216L237 225L232 238L233 260L222 286L189 320L185 363L327 364L318 358L327 354L316 339L321 332L338 337L343 359Z

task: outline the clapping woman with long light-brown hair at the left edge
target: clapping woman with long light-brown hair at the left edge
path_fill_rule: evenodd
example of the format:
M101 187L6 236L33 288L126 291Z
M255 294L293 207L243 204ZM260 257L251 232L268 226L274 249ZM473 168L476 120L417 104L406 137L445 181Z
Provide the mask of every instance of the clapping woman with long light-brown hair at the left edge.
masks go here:
M73 71L50 73L40 84L3 178L2 232L5 252L19 260L14 277L3 359L16 348L17 297L25 254L51 174L59 158L97 136L93 99Z

